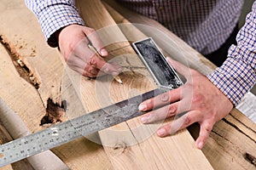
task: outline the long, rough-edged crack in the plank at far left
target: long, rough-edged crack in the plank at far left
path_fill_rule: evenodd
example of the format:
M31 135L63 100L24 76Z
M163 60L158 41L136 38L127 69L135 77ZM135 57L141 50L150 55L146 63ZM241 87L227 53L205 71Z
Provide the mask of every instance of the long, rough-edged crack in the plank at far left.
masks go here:
M3 35L0 35L0 42L9 53L9 56L12 59L15 69L19 73L20 77L25 79L26 82L32 84L34 88L40 88L41 82L39 81L38 76L36 75L35 71L32 71L31 66L25 63L24 57L17 52L15 45L9 42L8 39Z

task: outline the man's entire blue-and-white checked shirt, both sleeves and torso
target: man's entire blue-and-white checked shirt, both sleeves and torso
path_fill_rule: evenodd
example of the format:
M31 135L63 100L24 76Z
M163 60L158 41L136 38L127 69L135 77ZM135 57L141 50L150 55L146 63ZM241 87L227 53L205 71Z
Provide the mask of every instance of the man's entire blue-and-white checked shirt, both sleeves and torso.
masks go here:
M201 54L212 53L230 36L243 3L242 0L119 1L127 8L158 20ZM57 46L55 31L71 24L84 26L73 0L26 0L26 5L38 17L51 47ZM255 17L256 3L247 16L246 25L238 33L238 45L231 46L224 65L207 76L234 105L256 81Z

